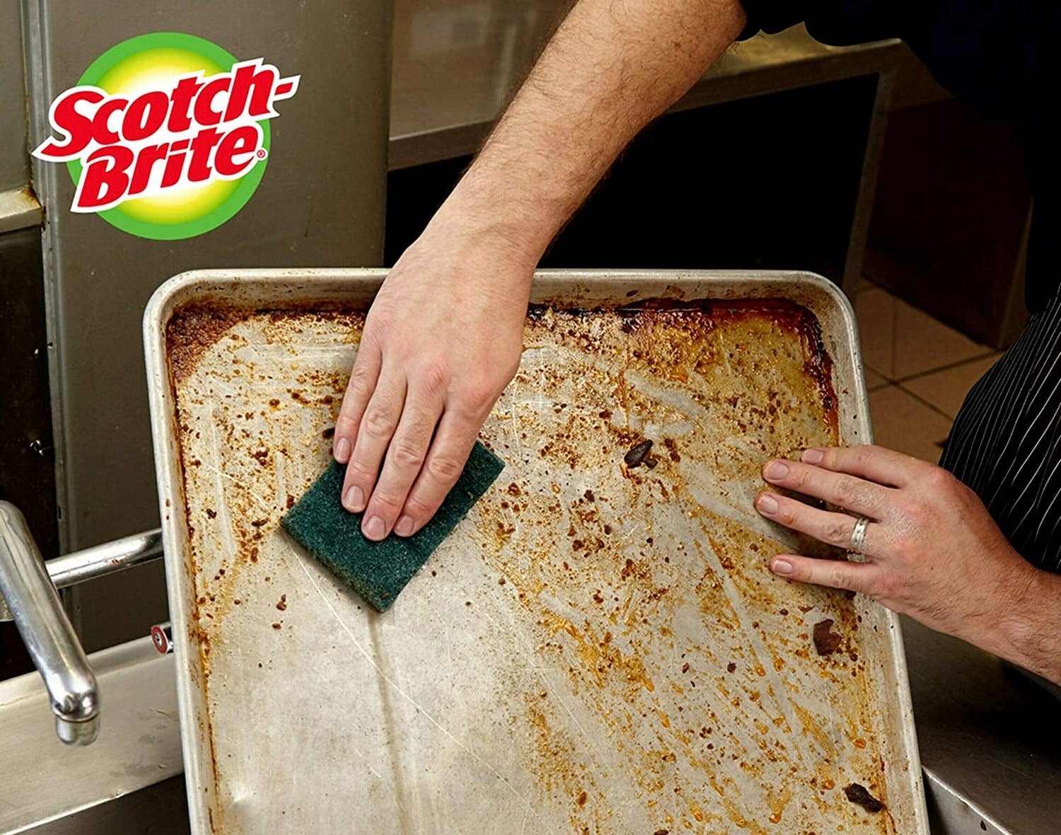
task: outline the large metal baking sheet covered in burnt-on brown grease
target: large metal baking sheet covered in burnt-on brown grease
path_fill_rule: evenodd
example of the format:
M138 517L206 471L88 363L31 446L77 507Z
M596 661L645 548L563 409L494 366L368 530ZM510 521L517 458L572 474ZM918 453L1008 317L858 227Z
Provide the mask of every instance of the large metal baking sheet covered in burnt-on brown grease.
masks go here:
M193 831L926 835L894 617L771 576L806 543L752 509L766 456L869 440L842 297L541 274L482 434L507 467L380 615L278 524L382 275L199 272L149 307Z

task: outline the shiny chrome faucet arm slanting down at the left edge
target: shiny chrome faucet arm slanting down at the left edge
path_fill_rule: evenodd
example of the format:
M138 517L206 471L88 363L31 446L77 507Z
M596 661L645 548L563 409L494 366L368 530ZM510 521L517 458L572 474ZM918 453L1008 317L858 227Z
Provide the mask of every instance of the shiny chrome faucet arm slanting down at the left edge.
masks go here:
M15 505L0 501L0 596L45 680L55 730L68 745L99 734L95 676L63 608L40 551Z

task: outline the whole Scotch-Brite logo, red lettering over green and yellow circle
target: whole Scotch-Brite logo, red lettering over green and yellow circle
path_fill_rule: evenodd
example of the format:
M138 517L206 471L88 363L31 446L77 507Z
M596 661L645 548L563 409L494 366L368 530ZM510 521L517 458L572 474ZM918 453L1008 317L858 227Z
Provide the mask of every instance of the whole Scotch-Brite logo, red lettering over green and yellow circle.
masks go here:
M141 238L192 238L250 199L268 161L268 120L299 77L194 35L140 35L55 99L54 136L33 155L67 163L71 211Z

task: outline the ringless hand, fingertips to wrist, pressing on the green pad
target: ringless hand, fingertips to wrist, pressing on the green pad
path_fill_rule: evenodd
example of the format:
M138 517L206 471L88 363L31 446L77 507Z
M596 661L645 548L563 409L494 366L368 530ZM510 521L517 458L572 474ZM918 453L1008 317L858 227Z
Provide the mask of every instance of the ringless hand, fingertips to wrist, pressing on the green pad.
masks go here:
M437 229L383 282L335 423L343 506L373 540L434 516L519 366L533 261Z

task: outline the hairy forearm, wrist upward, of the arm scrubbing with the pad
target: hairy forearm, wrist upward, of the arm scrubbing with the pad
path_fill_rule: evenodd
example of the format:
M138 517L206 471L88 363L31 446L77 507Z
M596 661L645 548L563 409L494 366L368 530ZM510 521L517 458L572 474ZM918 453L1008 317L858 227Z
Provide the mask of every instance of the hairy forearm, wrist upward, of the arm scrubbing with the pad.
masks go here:
M737 0L580 0L439 211L536 263L615 157L740 34Z

